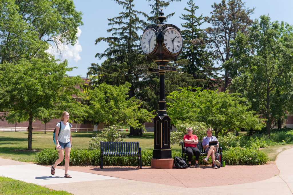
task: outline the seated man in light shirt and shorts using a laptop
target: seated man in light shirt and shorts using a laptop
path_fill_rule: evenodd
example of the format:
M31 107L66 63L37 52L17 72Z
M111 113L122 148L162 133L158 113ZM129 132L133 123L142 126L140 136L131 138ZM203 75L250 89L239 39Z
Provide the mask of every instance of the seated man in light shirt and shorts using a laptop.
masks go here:
M202 138L202 148L207 153L207 157L204 158L203 160L205 162L207 162L209 160L209 157L211 157L212 162L213 162L212 166L213 166L214 169L217 169L218 167L215 164L215 153L217 153L218 150L219 150L219 148L218 148L219 147L219 141L217 140L216 137L212 136L212 132L213 132L212 128L208 128L207 129L207 136ZM211 142L211 141L218 141L218 144L215 145L215 146L211 145L209 147L209 142Z

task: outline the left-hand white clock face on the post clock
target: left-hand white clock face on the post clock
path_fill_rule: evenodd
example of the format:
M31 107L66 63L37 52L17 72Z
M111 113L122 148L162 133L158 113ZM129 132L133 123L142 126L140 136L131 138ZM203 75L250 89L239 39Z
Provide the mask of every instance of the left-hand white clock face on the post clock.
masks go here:
M152 28L144 31L140 45L145 54L151 55L158 47L158 35L156 31Z

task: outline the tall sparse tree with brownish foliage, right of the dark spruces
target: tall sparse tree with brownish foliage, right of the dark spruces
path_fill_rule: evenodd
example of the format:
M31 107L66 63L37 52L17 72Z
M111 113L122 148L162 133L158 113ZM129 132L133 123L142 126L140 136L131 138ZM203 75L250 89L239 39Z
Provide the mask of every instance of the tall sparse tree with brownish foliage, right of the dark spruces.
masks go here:
M225 62L233 57L231 53L231 40L234 40L236 33L248 32L248 26L252 24L249 15L254 9L245 7L245 3L241 0L222 0L221 3L212 5L214 10L212 16L207 17L207 22L213 27L205 30L208 35L208 46L214 52L214 57L217 63L220 63L219 70L224 73L218 73L224 79L224 90L227 89L231 81L231 74L234 74L235 69L229 69L225 66Z

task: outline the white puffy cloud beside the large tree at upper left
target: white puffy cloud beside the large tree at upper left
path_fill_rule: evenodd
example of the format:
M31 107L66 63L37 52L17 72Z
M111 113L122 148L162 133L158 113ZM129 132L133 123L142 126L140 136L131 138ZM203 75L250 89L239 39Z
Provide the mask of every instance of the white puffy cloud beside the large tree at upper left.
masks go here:
M81 35L81 30L78 28L78 32L76 33L76 36L79 37ZM47 52L55 55L58 59L67 59L69 62L74 60L75 62L81 60L80 52L82 51L82 47L79 44L79 41L77 40L75 45L65 45L65 44L58 44L58 48L60 51L57 51L56 47L50 47Z

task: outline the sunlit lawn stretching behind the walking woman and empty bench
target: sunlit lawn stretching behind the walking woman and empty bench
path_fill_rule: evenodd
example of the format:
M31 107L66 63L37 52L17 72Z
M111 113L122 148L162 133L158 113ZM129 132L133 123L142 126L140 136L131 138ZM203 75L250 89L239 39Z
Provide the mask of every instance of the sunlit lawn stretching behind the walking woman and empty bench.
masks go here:
M95 133L72 132L72 147L87 149L89 140ZM139 142L142 149L154 149L154 132L144 133L142 137L129 136L127 142ZM46 148L54 148L53 132L33 132L32 149L28 152L28 132L0 132L0 158L22 162L33 162L35 153ZM181 151L181 146L171 145L172 150Z

